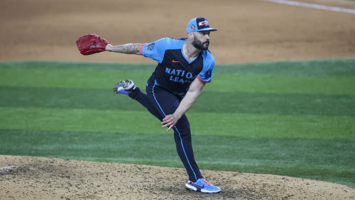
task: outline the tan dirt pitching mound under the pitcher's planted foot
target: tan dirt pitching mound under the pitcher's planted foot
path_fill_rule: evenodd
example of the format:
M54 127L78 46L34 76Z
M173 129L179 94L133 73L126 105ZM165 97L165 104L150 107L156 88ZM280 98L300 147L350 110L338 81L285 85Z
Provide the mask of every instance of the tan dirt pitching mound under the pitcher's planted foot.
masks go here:
M221 187L217 194L184 189L183 168L0 156L0 199L67 200L350 200L355 189L270 174L202 170Z

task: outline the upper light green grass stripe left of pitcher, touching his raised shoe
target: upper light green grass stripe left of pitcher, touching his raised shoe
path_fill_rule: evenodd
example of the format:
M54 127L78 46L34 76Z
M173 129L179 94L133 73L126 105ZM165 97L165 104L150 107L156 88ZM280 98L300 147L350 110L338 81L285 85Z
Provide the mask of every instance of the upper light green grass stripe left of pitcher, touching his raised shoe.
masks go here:
M136 84L145 85L149 74L132 71L80 71L61 69L1 69L0 85L64 87L64 88L105 88L112 89L119 80L133 79Z

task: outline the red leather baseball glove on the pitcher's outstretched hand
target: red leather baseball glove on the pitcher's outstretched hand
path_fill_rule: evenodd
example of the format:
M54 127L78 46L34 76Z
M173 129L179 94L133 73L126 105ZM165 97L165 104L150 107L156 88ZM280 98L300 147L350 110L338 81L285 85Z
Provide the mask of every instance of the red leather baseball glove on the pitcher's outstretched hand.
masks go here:
M89 34L76 40L76 45L80 53L83 55L105 51L107 44L109 44L107 40L101 39L100 36L97 36L96 34Z

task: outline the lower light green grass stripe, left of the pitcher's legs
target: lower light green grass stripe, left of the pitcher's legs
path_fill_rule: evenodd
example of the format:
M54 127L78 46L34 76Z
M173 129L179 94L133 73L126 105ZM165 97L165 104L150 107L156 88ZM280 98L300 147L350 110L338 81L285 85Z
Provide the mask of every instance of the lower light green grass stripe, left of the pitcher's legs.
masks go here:
M159 128L161 127L160 121L148 114L147 111L118 112L94 109L0 107L0 113L0 128L5 129L131 133L164 132L163 129Z

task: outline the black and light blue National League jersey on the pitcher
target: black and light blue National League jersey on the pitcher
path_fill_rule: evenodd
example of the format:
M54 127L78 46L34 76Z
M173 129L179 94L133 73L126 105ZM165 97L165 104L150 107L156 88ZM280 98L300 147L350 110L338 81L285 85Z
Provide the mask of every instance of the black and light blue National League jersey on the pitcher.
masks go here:
M214 58L209 50L201 50L197 57L189 62L182 52L187 39L162 38L151 43L144 43L141 55L158 62L153 79L160 87L169 91L184 93L196 78L211 82Z

